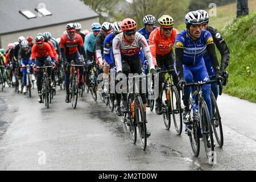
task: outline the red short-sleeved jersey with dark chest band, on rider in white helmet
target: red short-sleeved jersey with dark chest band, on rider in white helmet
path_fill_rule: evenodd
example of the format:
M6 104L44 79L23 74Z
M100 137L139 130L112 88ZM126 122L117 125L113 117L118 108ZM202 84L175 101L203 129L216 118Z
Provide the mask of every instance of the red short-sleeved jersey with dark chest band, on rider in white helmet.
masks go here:
M60 48L64 47L65 54L71 55L77 52L77 46L84 46L81 35L75 34L75 38L72 40L68 38L68 34L61 36Z

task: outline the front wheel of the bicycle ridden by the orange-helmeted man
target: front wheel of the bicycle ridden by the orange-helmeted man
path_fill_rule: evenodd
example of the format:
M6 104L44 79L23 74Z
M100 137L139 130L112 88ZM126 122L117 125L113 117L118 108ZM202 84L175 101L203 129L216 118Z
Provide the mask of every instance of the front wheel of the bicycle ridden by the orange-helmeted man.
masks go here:
M137 101L136 101L137 99ZM146 137L146 115L144 113L143 102L140 96L135 98L134 102L134 112L135 112L135 119L138 125L139 131L139 138L141 139L141 147L143 150L147 147L147 137Z

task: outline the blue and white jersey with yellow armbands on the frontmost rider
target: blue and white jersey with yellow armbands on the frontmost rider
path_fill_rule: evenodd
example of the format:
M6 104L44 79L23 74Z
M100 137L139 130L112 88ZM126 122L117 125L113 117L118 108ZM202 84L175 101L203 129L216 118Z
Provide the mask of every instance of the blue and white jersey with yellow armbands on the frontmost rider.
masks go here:
M175 39L175 48L183 48L183 64L196 65L203 60L207 45L213 43L212 35L209 31L202 29L201 36L196 41L192 40L188 30L181 31Z

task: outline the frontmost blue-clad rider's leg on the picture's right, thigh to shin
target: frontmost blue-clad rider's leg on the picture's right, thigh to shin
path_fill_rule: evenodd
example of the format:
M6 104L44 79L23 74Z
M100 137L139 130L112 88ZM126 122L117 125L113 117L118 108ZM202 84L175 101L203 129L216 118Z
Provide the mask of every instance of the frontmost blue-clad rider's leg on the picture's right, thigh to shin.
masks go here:
M204 61L202 61L200 64L198 64L196 66L196 68L194 69L194 74L195 74L195 81L209 81L209 76L207 73L207 69L205 67ZM212 102L210 101L210 84L207 85L203 85L202 87L202 93L203 93L203 97L204 100L207 104L208 110L209 110L209 114L210 114L210 118L212 118Z

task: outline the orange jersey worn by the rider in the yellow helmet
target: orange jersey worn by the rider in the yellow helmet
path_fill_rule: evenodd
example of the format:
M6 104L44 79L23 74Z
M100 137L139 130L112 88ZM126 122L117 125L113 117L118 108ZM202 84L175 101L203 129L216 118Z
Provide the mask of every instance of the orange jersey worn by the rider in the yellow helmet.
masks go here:
M164 56L167 55L174 47L175 38L179 34L179 31L172 28L172 34L170 37L166 37L160 32L160 27L155 28L150 34L149 46L153 57L156 59L156 55Z

